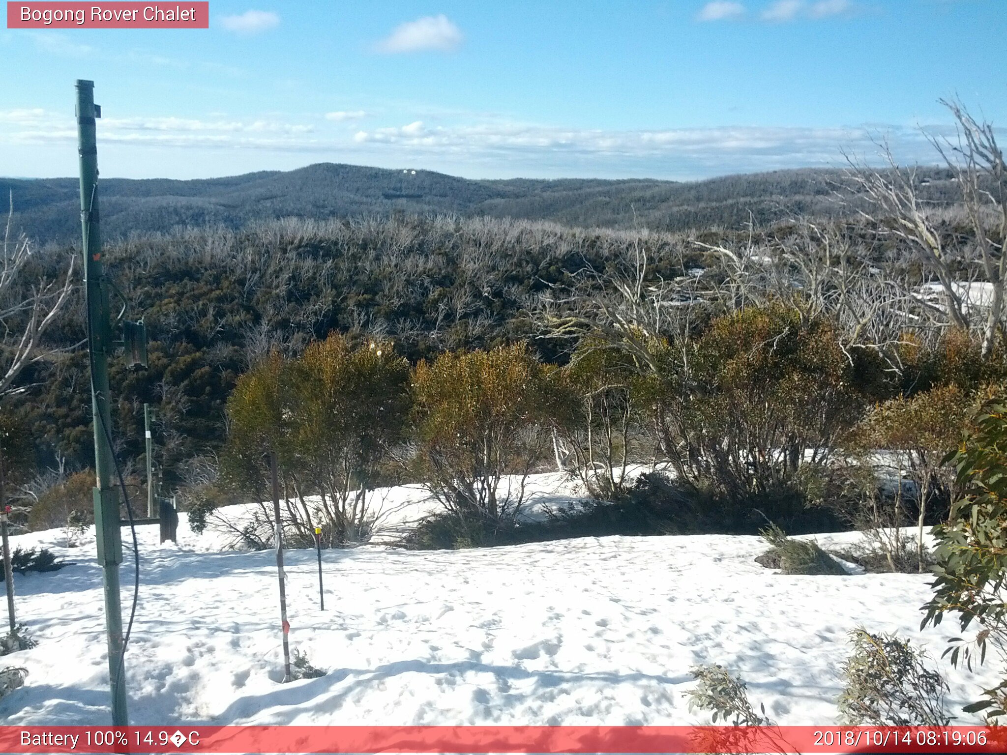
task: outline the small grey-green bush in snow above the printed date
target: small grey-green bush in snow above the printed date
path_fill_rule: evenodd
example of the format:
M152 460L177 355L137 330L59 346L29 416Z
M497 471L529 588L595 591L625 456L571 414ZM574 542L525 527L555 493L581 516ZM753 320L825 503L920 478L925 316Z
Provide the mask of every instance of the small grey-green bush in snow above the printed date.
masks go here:
M843 722L852 726L948 726L948 685L926 667L925 655L894 634L855 629L853 653L843 663L839 697Z

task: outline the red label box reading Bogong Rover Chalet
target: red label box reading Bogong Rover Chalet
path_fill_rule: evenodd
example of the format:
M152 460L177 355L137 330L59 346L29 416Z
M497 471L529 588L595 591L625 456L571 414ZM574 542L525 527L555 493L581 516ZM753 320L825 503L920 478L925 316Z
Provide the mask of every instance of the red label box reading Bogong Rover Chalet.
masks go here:
M8 2L8 29L208 29L208 2Z

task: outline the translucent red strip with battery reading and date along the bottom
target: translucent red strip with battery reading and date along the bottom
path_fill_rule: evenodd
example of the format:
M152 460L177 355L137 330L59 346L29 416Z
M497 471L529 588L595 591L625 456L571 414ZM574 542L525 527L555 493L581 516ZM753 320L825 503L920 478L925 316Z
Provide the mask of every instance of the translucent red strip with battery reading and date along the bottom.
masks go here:
M979 753L993 727L856 726L28 726L0 753Z

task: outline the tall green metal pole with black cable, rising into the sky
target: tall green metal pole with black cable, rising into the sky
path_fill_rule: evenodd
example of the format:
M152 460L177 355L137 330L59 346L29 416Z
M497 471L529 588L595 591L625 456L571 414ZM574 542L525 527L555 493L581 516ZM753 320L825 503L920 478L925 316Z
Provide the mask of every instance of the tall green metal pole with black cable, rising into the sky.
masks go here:
M112 415L109 411L109 353L112 323L109 291L102 265L102 237L98 214L98 146L95 119L95 83L77 82L77 133L81 155L81 226L84 234L84 275L88 308L88 349L91 355L91 404L95 430L95 533L98 562L105 573L105 625L109 635L109 682L112 723L128 726L126 666L123 662L123 617L119 594L119 565L123 560L119 496L113 485Z

